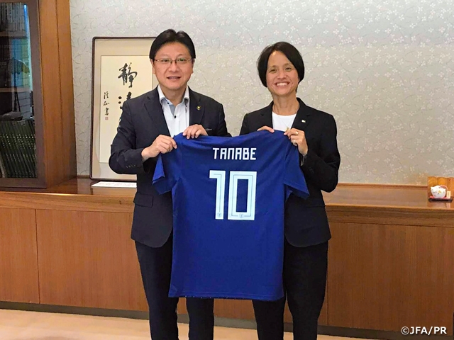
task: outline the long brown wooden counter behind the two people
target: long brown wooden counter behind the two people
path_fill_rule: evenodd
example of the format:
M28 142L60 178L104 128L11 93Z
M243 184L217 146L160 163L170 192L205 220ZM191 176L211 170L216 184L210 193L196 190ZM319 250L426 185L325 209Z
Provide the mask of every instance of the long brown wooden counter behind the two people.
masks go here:
M0 301L147 309L130 239L135 189L91 183L0 191ZM426 195L419 186L350 184L325 195L333 238L320 324L453 333L454 204ZM253 319L247 300L216 300L215 314Z

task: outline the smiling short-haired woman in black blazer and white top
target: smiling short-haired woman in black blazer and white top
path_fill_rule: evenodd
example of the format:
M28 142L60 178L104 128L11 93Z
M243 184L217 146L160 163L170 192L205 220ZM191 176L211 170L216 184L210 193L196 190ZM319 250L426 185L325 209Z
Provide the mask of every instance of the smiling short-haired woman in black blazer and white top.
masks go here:
M328 239L331 238L321 191L338 183L341 157L332 115L306 106L297 97L304 63L288 42L265 47L257 62L262 84L272 96L269 106L245 115L240 135L257 130L282 133L298 148L309 189L306 200L291 195L285 206L284 289L293 317L294 339L313 340L325 297ZM260 340L284 337L285 299L253 301Z

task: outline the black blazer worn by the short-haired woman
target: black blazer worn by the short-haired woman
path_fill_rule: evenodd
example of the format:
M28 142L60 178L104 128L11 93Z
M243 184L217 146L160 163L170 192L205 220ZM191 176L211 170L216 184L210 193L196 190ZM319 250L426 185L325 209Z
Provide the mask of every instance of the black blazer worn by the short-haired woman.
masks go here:
M336 122L332 115L306 106L298 98L299 110L292 128L303 130L309 152L301 170L306 178L309 198L291 195L285 205L285 237L294 246L321 244L331 238L321 191L331 192L338 183L341 156L336 141ZM272 128L272 104L245 115L240 135L262 126Z

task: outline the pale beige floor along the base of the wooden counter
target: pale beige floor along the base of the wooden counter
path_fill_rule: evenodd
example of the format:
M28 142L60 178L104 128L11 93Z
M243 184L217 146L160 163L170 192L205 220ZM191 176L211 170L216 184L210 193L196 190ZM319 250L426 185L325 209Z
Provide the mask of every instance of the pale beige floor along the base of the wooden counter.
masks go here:
M180 340L187 340L187 324L179 324ZM146 320L116 317L91 317L0 310L0 340L150 340ZM215 327L215 340L255 340L253 329ZM286 333L285 340L293 339ZM319 336L319 340L348 340Z

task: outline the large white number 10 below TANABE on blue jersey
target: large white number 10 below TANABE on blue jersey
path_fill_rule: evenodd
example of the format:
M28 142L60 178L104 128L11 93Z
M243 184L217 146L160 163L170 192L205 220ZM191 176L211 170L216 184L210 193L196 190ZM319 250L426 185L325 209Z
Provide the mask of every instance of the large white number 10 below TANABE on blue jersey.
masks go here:
M230 171L228 183L228 220L255 219L255 190L257 187L256 171ZM226 171L210 170L210 179L216 179L216 220L224 219L224 198L226 193ZM248 203L246 211L237 211L238 181L248 181Z

